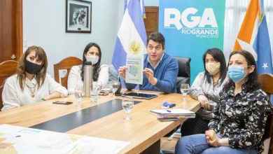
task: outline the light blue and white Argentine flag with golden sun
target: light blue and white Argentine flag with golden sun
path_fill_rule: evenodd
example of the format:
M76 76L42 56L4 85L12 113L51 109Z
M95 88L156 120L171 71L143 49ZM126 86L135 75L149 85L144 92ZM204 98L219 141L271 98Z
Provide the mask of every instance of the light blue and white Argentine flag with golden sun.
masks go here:
M112 59L116 70L126 64L126 57L131 52L145 54L146 40L143 0L125 0L125 12L118 30Z

